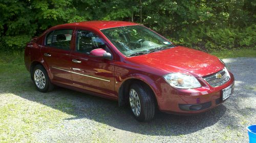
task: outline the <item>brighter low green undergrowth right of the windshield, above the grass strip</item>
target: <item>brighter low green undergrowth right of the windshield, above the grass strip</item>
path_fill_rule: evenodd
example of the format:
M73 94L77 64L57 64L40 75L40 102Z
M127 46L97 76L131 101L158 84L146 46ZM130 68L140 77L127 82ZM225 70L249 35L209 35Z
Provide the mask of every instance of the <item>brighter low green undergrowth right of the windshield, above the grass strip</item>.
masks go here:
M232 49L238 47L255 47L256 25L252 24L243 29L230 27L211 29L207 27L195 27L184 29L179 33L181 39L174 39L176 43L202 49L205 51Z

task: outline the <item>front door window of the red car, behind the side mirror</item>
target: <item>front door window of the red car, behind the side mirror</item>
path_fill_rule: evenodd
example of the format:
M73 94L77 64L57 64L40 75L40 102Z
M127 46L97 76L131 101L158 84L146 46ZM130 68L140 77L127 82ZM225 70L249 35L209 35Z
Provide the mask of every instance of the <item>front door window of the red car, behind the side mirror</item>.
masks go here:
M76 39L76 51L81 53L90 54L93 49L102 48L105 49L106 46L104 42L97 35L90 31L77 32Z

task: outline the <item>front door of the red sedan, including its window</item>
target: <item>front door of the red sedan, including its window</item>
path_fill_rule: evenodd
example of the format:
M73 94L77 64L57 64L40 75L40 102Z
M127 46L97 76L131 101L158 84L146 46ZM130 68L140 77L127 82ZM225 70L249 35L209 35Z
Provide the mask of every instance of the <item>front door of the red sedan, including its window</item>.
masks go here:
M90 51L96 48L108 50L101 38L94 33L77 31L76 47L71 54L74 86L114 97L114 65L112 60L91 57Z

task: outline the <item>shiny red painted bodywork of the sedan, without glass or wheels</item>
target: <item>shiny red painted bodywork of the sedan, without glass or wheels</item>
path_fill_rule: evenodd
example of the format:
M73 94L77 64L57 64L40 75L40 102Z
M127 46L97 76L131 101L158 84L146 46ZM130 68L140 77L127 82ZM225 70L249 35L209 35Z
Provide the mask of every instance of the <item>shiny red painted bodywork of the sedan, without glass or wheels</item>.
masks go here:
M214 108L215 99L221 98L221 90L234 82L231 79L217 88L210 87L203 79L212 73L216 73L224 68L224 65L216 56L202 51L177 46L174 48L161 50L134 57L125 57L117 48L100 32L101 29L117 26L137 25L132 22L124 21L90 21L57 25L36 40L31 41L25 48L25 65L30 71L33 63L42 64L51 81L62 87L94 94L97 96L118 100L118 92L121 85L128 79L138 79L145 82L153 90L158 107L162 111L175 113L198 113L199 111L180 110L178 104L196 104L212 102L210 108ZM44 45L45 36L48 32L57 29L73 29L70 50L55 49ZM113 56L112 60L106 60L89 56L88 54L75 51L76 31L89 30L98 35L109 47ZM102 54L104 51L96 50L95 55ZM52 56L46 57L44 53ZM81 63L72 62L73 59ZM52 67L67 71L61 71ZM79 74L101 78L91 78ZM180 72L194 75L202 84L201 88L181 90L171 87L164 79L163 75ZM210 109L208 108L208 109Z

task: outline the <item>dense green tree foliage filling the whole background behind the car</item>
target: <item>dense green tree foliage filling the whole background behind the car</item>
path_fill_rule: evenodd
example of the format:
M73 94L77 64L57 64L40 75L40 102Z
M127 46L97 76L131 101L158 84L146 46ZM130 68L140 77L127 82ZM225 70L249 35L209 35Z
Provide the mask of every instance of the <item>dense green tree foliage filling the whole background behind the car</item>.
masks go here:
M250 0L0 0L0 49L23 50L47 28L68 22L124 20L177 44L211 51L255 47L256 2Z

